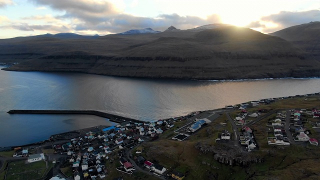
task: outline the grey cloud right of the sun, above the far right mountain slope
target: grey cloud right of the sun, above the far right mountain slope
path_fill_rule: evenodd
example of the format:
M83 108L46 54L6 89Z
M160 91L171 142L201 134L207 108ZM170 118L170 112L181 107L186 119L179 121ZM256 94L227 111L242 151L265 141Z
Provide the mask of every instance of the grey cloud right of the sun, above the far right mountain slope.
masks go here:
M280 11L279 13L262 16L257 21L252 21L247 27L259 28L264 33L281 30L293 25L319 21L320 10L313 9L307 11Z

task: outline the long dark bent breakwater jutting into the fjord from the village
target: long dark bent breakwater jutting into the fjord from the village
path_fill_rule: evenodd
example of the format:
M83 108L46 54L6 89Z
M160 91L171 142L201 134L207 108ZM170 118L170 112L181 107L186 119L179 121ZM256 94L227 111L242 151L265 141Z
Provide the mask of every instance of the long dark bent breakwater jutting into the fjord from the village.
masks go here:
M12 109L7 111L7 113L25 113L25 114L89 114L96 115L104 118L108 118L111 122L122 123L124 121L132 122L145 122L133 118L123 117L115 114L110 114L98 110L23 110L23 109Z

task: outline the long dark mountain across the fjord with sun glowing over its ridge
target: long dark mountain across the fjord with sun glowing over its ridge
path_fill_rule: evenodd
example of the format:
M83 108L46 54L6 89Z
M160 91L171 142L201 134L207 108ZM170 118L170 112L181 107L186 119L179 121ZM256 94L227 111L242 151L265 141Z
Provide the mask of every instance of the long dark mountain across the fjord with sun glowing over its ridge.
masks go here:
M174 29L174 28L170 28ZM0 39L6 70L117 76L252 79L320 76L320 62L280 37L227 24L96 39Z

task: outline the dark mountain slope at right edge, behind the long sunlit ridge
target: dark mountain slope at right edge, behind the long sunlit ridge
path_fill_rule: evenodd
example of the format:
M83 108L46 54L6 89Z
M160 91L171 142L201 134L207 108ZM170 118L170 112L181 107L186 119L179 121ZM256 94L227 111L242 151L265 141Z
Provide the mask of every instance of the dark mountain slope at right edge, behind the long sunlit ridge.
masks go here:
M318 21L294 25L269 34L281 37L306 52L320 56L320 22Z

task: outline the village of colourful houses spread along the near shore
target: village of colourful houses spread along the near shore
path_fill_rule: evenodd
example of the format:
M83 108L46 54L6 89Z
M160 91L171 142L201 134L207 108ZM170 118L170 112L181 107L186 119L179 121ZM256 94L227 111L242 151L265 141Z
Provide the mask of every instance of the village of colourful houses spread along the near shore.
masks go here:
M278 99L280 98L226 105L221 109L197 111L185 116L151 122L123 120L115 126L98 126L83 131L56 134L48 139L47 143L51 145L43 144L35 147L36 150L31 150L33 154L30 153L30 148L16 148L12 156L26 158L26 163L43 160L48 163L50 159L50 163L53 163L59 172L53 173L51 178L48 178L54 180L107 179L108 174L114 170L120 174L132 175L139 171L155 178L183 179L184 172L143 156L143 143L157 141L166 131L170 131L171 134L168 140L187 141L190 136L197 134L200 129L210 125L222 114L226 115L225 120L231 124L231 128L224 128L217 136L212 136L216 143L235 143L239 145L239 150L248 152L258 151L260 144L317 146L316 137L320 134L320 120L318 120L320 111L316 108L259 107L261 104L273 103ZM250 128L261 120L266 121L265 140L257 140L256 130ZM180 125L177 126L177 123ZM225 123L220 124L224 126ZM60 140L61 136L65 136L66 140ZM73 138L68 140L68 137ZM115 168L109 168L111 166ZM9 179L7 177L13 175L6 173L4 179Z

